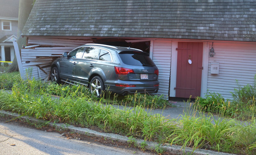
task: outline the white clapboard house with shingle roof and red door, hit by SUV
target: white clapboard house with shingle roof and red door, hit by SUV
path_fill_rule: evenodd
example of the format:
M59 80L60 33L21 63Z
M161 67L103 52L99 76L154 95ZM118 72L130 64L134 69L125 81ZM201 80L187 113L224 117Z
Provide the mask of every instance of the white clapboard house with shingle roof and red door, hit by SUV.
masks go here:
M37 0L22 35L23 71L46 78L54 57L87 42L139 48L159 69L159 94L231 97L256 74L256 2ZM41 68L42 69L41 69Z

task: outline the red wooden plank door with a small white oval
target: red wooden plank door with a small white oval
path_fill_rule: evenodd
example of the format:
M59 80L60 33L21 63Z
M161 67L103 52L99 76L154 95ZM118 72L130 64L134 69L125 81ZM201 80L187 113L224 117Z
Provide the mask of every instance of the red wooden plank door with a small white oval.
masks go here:
M176 97L195 98L201 93L203 43L178 42ZM190 64L188 60L192 61Z

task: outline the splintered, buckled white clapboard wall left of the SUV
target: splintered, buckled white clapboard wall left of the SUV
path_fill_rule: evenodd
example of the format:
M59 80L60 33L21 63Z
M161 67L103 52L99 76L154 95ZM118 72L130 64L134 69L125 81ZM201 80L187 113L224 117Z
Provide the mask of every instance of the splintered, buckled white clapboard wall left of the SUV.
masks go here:
M75 47L93 43L90 38L72 38L51 36L32 36L27 47L21 49L22 68L26 78L46 79L51 71L53 60Z

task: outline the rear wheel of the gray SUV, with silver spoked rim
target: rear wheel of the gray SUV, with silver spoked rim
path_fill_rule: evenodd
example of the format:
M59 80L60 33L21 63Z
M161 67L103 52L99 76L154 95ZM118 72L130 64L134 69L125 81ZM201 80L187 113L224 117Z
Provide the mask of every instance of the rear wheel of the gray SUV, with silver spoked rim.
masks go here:
M101 77L95 76L90 82L90 91L92 94L95 94L97 97L101 96L102 91L105 90L105 85Z

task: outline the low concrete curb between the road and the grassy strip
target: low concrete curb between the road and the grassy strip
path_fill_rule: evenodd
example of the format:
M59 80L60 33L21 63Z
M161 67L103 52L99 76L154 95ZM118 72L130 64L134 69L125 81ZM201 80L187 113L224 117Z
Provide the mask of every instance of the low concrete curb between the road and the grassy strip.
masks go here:
M40 120L40 119L36 119L33 117L28 117L28 116L21 116L20 114L17 113L11 113L11 112L7 112L4 110L0 110L0 114L2 115L8 115L11 117L20 117L22 119L28 119L31 122L41 122L41 123L47 123L48 121L44 121L44 120ZM117 135L117 134L112 134L112 133L102 133L102 132L98 132L98 131L94 131L91 129L87 129L87 128L81 128L81 127L75 127L72 125L66 125L63 123L52 123L52 122L48 122L49 126L54 126L57 128L64 128L64 129L69 129L70 131L73 132L77 132L80 134L84 134L84 135L88 135L88 136L93 136L93 137L99 137L99 138L107 138L107 139L113 139L119 142L123 142L123 143L128 143L128 138L126 136L122 136L122 135ZM142 139L136 139L137 145L141 145L141 143L144 143L144 140ZM157 147L158 143L156 142L152 142L152 141L146 141L146 146L145 148L148 150L155 150L155 148ZM186 147L185 149L179 145L171 145L171 146L167 146L167 145L160 145L161 148L164 148L167 152L173 153L173 154L177 154L177 155L183 155L183 154L189 154L192 152L191 148ZM196 149L193 154L196 155L234 155L234 154L230 154L230 153L222 153L222 152L216 152L216 151L211 151L211 150L204 150L204 149Z

